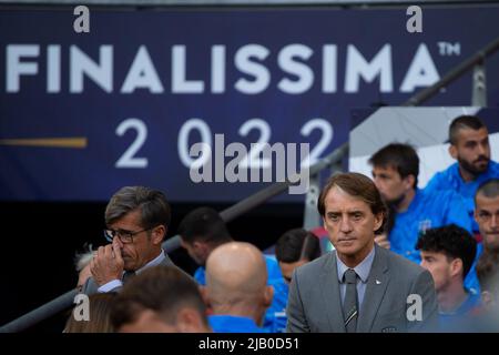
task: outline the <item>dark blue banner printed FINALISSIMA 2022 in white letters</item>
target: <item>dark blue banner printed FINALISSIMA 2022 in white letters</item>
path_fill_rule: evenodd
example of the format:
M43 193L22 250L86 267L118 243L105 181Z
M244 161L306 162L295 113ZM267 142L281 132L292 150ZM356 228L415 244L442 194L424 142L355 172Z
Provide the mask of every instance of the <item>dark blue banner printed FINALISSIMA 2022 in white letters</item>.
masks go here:
M238 201L265 185L258 166L276 181L278 161L284 176L314 163L348 140L352 109L400 104L499 34L498 7L422 8L419 33L408 19L90 8L90 31L75 32L72 8L0 10L0 200L102 201L140 184L171 201ZM487 63L496 105L499 60ZM470 97L468 75L429 103ZM257 142L281 145L259 156Z

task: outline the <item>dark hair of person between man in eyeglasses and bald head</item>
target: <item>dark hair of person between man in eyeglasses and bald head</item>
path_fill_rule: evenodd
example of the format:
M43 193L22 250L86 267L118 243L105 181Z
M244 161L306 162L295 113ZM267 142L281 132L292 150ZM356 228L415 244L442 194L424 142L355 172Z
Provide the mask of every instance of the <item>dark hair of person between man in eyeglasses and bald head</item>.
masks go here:
M218 212L211 207L191 211L180 223L179 234L187 243L201 240L212 243L231 242L232 237Z

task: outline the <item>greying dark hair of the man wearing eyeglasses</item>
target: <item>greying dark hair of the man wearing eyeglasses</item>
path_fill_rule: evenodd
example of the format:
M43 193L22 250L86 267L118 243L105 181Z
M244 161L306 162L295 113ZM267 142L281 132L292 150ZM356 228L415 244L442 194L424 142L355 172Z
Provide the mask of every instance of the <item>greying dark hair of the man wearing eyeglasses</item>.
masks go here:
M125 214L140 209L141 224L144 229L157 225L167 227L172 211L165 195L145 186L125 186L120 189L105 207L105 223L112 224Z

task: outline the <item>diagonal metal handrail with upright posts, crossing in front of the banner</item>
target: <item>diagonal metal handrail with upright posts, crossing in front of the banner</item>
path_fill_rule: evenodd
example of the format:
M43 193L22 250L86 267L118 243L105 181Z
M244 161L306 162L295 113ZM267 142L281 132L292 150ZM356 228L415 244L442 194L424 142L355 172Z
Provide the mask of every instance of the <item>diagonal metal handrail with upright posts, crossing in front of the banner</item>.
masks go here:
M479 50L476 54L462 61L455 69L450 70L444 78L435 83L434 85L424 89L421 92L411 97L407 100L403 105L404 106L413 106L418 105L436 93L444 87L447 87L452 81L460 78L462 74L467 73L471 69L475 69L473 74L473 89L472 89L472 104L477 103L486 103L486 84L485 84L485 70L483 62L485 59L492 53L495 53L499 49L499 38L495 39L490 43L488 43L483 49ZM478 74L477 74L478 73ZM314 199L316 199L318 193L318 174L324 169L339 169L338 163L348 155L348 142L344 143L339 148L337 148L334 152L332 152L326 158L322 159L317 163L313 164L308 174L310 178L310 189L307 193L306 203L305 203L305 222L304 225L310 226L314 225L314 213L315 212L315 203ZM293 181L293 182L292 182ZM221 212L221 216L224 221L228 222L234 220L235 217L253 210L254 207L261 205L262 203L268 201L269 199L283 193L288 186L297 183L296 176L289 178L286 182L278 182L265 187L255 194L237 202L233 206ZM312 205L314 212L312 212ZM318 224L315 224L318 225ZM175 235L163 243L163 248L169 253L180 247L180 236ZM3 325L0 327L0 333L16 333L22 332L34 324L38 324L61 311L68 310L73 305L74 296L78 294L77 290L69 291L61 296L50 301L49 303L24 314L23 316Z

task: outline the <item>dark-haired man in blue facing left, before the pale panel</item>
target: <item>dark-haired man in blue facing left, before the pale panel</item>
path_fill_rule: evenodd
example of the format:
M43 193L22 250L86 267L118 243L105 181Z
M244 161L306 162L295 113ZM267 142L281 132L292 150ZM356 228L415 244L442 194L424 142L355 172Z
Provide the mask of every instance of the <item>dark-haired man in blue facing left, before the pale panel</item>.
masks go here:
M388 144L369 159L369 164L376 187L391 213L393 227L387 235L395 253L419 264L416 243L426 230L454 223L471 231L471 219L460 195L452 191L427 193L417 189L419 158L410 145ZM476 290L476 275L468 275L465 285Z

